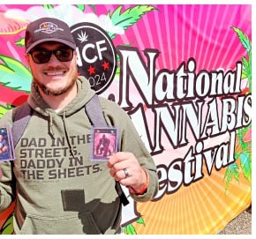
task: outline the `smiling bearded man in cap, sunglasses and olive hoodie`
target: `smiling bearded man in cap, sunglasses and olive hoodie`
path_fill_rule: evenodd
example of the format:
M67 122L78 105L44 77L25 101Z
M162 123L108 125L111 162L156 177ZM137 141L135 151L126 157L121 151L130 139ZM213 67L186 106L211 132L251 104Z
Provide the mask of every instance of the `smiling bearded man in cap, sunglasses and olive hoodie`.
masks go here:
M58 19L26 28L26 61L33 75L28 104L33 114L15 147L16 160L1 162L0 213L16 200L15 234L118 234L121 202L115 182L135 201L154 198L154 161L129 116L100 97L109 127L118 127L118 152L90 161L91 123L85 104L94 91L78 77L76 46ZM15 108L16 109L16 108ZM8 111L0 125L13 123Z

